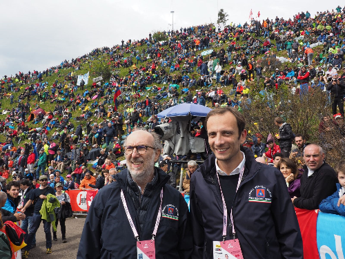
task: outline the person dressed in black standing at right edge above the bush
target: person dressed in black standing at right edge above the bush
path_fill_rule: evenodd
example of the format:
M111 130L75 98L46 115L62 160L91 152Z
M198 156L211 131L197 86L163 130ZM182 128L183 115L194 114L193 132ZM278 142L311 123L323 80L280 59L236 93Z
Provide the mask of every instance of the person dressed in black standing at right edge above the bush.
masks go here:
M337 114L338 107L339 113L344 117L344 88L345 82L339 80L339 75L333 75L332 81L327 85L327 90L331 91L333 115Z

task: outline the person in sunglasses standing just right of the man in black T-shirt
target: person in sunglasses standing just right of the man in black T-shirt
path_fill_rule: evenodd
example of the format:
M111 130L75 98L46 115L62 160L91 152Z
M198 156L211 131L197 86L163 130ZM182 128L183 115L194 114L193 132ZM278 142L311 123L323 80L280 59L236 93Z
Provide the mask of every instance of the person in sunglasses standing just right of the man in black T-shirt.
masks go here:
M62 191L63 185L59 182L55 185L55 189L57 191L56 196L57 200L60 202L60 209L59 211L64 212L66 211L66 203L70 203L70 195L66 193L65 191ZM55 222L52 222L52 224L55 224L57 227L60 222L60 228L61 228L61 236L62 236L62 242L66 243L66 214L65 213L59 213L59 218L55 220ZM57 231L52 232L52 240L57 241Z

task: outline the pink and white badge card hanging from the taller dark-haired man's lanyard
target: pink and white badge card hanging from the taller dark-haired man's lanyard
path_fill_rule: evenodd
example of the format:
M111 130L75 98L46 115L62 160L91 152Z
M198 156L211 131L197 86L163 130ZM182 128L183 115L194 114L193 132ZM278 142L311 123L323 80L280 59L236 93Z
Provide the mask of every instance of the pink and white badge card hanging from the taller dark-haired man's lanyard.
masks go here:
M239 240L213 241L213 259L243 259Z

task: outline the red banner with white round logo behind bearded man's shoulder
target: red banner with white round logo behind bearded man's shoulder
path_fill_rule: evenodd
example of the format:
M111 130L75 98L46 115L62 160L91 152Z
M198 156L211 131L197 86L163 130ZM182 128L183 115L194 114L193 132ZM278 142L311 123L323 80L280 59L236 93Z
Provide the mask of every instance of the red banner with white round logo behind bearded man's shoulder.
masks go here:
M88 211L93 198L98 193L98 189L88 189L86 191L70 190L66 191L70 195L70 206L72 211Z

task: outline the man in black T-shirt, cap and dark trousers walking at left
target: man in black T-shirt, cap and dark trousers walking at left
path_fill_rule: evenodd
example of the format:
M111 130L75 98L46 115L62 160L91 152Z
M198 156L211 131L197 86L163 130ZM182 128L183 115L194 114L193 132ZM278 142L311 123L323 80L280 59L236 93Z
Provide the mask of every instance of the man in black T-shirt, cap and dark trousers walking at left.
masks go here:
M34 213L32 215L32 224L29 227L29 236L28 236L28 242L26 247L23 248L23 255L22 258L28 258L29 251L31 249L32 245L32 239L34 238L34 234L39 229L39 226L41 225L41 221L43 221L43 228L44 232L46 233L46 253L52 253L52 233L50 232L51 222L48 222L46 220L42 220L42 215L39 213L41 210L43 200L47 199L48 194L55 195L54 189L52 189L50 186L48 186L48 178L46 175L41 175L39 177L40 186L38 189L34 189L32 193L30 194L30 199L28 202L26 202L23 209L21 209L22 213L25 213L26 209L31 206L31 204L34 202Z

